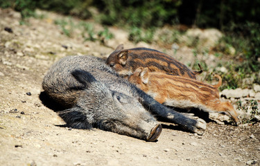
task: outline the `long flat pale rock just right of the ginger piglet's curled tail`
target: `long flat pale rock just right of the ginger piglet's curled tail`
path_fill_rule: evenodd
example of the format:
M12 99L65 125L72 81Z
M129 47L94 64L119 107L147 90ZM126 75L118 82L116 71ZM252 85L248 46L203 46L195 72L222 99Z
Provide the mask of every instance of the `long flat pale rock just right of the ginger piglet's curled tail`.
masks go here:
M224 89L221 94L226 98L243 98L249 95L249 89Z

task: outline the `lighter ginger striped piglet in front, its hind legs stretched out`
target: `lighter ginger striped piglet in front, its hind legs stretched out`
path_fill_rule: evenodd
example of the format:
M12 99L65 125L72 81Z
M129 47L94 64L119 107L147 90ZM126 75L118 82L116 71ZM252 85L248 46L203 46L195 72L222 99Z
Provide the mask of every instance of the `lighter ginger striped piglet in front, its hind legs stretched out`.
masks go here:
M211 85L187 77L149 72L148 68L137 68L128 80L161 104L182 109L224 112L237 124L239 118L232 104L220 101L218 87L222 79L219 75L214 77L218 78L218 84Z

